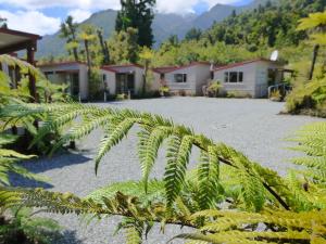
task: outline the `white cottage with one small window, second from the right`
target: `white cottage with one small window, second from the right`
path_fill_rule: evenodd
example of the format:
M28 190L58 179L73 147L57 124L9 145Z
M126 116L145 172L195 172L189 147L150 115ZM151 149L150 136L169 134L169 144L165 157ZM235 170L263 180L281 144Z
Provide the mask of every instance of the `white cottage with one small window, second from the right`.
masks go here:
M211 64L193 62L185 66L158 67L153 72L155 80L159 80L161 86L167 86L171 93L201 95L202 87L211 78Z

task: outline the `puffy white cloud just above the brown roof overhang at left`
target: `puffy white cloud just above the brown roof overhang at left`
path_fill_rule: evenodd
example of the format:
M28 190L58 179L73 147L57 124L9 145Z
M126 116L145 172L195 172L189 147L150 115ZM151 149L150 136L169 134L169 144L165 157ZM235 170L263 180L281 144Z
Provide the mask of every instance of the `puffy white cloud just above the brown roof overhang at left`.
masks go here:
M0 10L0 16L8 20L11 29L37 35L53 34L59 29L60 18L49 17L38 11L17 11L14 13Z

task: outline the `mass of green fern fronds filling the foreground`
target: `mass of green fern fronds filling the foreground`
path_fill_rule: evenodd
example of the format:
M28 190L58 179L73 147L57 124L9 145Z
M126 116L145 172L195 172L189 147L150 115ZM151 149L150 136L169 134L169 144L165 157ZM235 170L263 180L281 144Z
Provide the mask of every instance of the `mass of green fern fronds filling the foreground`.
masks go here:
M59 143L53 141L54 149L102 128L97 170L103 156L137 125L142 180L114 183L86 198L41 189L2 188L3 206L97 217L121 215L126 218L118 230L130 243L140 243L153 222L162 228L167 223L196 228L198 232L177 237L208 243L325 242L325 123L299 132L294 139L301 143L298 150L309 156L294 163L306 169L281 178L240 152L156 115L82 104L20 103L1 110L1 116L10 121L20 123L26 115L47 115L35 141L51 130L71 127ZM151 180L158 151L165 141L164 178ZM189 171L195 147L201 156Z

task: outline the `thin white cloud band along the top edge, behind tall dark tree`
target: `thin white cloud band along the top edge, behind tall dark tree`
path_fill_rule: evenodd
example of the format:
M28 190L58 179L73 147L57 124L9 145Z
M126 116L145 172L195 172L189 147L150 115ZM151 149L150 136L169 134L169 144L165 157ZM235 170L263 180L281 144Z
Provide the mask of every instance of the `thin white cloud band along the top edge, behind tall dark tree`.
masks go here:
M164 13L191 12L198 3L205 3L213 7L216 3L235 3L239 0L156 0L156 9ZM120 0L0 0L11 7L27 10L40 10L52 7L63 7L84 11L96 11L105 9L120 9Z

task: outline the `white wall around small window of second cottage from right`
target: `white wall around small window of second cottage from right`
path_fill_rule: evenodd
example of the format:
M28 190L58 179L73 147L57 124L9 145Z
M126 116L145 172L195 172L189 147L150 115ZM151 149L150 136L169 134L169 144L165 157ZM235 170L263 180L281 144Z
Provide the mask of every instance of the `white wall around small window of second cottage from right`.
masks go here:
M175 82L176 74L187 74L187 82ZM198 64L166 73L164 80L172 92L185 91L187 94L200 95L209 78L210 65Z

